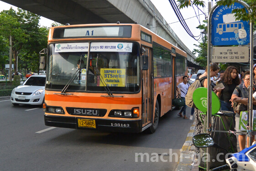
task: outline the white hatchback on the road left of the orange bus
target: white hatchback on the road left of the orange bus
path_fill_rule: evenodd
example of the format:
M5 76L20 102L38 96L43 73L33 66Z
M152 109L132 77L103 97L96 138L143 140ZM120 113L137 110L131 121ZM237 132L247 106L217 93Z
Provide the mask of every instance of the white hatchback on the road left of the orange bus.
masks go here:
M44 103L44 88L46 75L32 75L21 85L11 92L11 103L13 105Z

